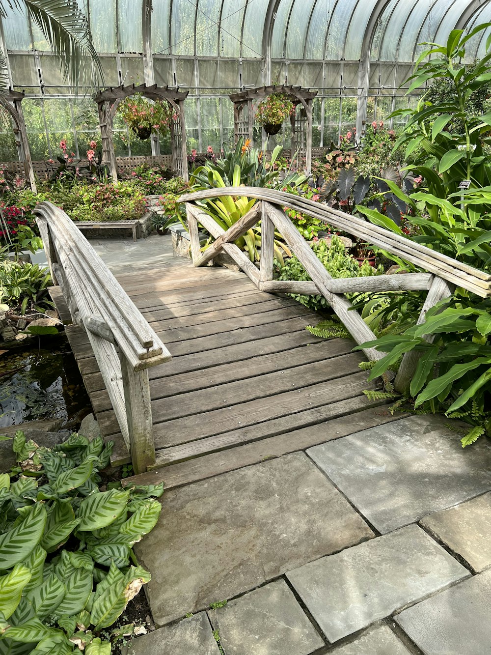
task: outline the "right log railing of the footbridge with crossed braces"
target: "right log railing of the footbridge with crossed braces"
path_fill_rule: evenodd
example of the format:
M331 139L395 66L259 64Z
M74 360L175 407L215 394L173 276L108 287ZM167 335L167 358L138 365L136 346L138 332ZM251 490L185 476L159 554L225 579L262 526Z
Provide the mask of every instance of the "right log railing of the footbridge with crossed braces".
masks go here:
M257 198L261 202L255 204L247 214L227 231L224 231L206 213L203 206L195 203L228 195ZM363 218L334 210L326 204L283 191L259 187L207 189L206 191L188 193L181 196L179 200L185 202L186 206L191 239L191 256L194 266L205 265L217 253L224 250L249 276L259 291L323 295L359 345L367 341L373 341L376 336L353 309L351 303L346 299L345 293L427 290L426 301L418 318L418 324L424 323L427 310L434 307L442 299L452 295L456 287L462 287L483 298L491 296L491 275L487 272L480 271L452 259L452 257L431 250L405 236L392 233L378 225L373 225L373 223L369 223ZM401 259L422 269L422 272L383 277L333 279L316 257L312 248L300 235L295 225L287 217L283 211L284 207L316 217L320 221L333 225L333 227L353 234L373 246L378 246L386 252L401 257ZM234 244L234 241L251 229L259 220L261 220L261 261L258 269L250 261L249 257ZM204 253L200 250L198 223L211 236L215 237L215 242ZM310 278L312 278L312 282L280 282L273 280L275 228L282 234L289 248L297 255ZM427 335L425 338L427 341L431 341L433 336ZM380 360L384 356L383 352L378 352L374 348L364 348L364 352L371 361ZM420 353L413 350L403 357L394 382L397 390L407 390L419 356Z

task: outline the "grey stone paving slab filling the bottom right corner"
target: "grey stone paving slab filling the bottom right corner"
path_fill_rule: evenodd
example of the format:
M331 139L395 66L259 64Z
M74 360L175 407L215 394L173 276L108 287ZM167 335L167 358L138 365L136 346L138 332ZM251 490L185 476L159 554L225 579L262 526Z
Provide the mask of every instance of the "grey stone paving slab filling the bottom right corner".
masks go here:
M489 655L491 571L409 607L397 623L425 655Z

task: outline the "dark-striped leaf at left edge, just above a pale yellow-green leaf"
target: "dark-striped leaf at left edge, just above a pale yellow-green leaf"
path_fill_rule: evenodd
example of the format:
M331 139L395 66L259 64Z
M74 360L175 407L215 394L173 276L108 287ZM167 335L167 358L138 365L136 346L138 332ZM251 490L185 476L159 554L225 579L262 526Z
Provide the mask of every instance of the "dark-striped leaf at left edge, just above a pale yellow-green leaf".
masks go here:
M26 519L0 536L0 571L24 561L41 541L46 525L43 504L35 504Z

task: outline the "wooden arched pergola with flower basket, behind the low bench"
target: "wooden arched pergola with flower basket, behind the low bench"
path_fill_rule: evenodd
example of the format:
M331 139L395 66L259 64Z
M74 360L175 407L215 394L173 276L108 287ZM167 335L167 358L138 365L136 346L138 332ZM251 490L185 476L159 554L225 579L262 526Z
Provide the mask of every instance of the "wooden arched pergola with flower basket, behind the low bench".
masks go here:
M164 100L173 109L173 119L170 125L170 141L172 147L173 169L186 181L189 179L187 170L186 130L184 121L184 101L189 91L179 91L178 88L140 84L135 86L109 87L94 96L99 111L99 123L102 140L102 160L109 166L111 176L117 181L116 156L113 141L113 123L119 103L124 98L141 94L150 100Z

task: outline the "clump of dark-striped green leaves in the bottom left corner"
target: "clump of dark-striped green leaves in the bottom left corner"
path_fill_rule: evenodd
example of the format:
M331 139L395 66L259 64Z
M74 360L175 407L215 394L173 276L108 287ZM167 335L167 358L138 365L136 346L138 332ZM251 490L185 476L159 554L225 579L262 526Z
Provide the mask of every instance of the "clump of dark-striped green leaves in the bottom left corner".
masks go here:
M109 655L132 626L108 628L151 577L132 547L163 486L100 491L113 448L100 437L50 450L18 431L13 447L18 466L0 475L0 653Z

